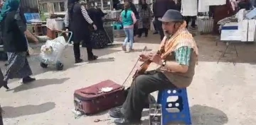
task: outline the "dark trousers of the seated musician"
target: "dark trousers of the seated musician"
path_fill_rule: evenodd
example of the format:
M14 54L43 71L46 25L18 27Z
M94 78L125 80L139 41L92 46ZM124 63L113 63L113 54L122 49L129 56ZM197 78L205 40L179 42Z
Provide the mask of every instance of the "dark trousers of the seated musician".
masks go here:
M122 114L129 120L141 119L144 102L148 95L156 90L164 90L166 88L176 88L176 86L164 76L164 73L149 71L144 75L138 76L132 82L127 98L122 105Z

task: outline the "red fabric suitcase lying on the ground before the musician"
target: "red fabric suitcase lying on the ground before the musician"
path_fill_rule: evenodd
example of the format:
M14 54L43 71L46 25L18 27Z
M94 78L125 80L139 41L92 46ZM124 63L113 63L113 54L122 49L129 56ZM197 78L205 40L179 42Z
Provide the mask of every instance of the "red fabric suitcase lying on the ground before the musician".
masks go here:
M101 88L112 88L110 92L101 92ZM124 86L107 80L75 90L75 109L85 114L96 114L124 103Z

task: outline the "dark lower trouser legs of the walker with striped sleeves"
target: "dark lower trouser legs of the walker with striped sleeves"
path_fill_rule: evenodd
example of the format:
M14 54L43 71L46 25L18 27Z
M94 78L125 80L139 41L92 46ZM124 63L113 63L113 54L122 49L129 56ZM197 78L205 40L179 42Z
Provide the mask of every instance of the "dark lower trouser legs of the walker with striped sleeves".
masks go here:
M75 60L80 59L80 42L74 42L73 44L73 49L74 49L74 54L75 54ZM87 44L86 46L87 49L87 57L88 59L93 57L92 53L92 46L90 44Z

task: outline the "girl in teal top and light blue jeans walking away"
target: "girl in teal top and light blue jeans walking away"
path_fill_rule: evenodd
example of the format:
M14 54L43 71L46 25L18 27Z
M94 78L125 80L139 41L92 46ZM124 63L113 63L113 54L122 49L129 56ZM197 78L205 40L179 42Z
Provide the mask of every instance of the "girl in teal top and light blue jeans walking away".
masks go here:
M132 44L134 42L134 24L137 22L135 14L132 12L129 2L124 3L124 11L121 12L121 16L119 20L124 25L124 32L126 38L124 40L124 44L122 44L122 50L127 51L126 45L129 41L129 50L128 52L132 51Z

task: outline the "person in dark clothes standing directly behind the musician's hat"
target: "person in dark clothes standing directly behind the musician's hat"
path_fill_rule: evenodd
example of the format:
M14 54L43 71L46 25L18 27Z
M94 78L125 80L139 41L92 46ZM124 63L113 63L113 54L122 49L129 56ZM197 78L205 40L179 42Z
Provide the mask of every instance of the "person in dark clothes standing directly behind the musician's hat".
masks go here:
M163 40L164 38L164 31L162 28L161 21L158 20L158 18L161 18L164 16L164 13L168 11L169 9L178 10L178 7L176 6L175 1L173 0L156 0L156 2L153 4L153 13L156 21L156 27L159 30L160 38Z

